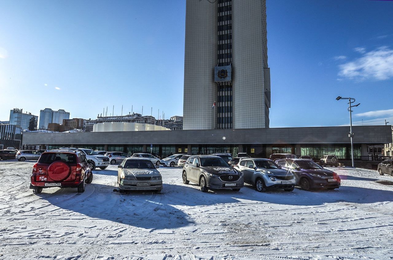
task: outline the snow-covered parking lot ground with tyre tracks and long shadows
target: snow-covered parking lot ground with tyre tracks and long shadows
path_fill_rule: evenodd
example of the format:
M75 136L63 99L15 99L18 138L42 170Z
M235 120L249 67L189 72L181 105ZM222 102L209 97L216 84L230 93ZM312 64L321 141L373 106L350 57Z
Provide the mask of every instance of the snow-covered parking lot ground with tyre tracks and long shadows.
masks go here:
M338 190L202 193L163 167L161 194L119 194L111 165L82 194L34 195L33 164L0 161L0 259L393 259L393 177L373 170L333 168Z

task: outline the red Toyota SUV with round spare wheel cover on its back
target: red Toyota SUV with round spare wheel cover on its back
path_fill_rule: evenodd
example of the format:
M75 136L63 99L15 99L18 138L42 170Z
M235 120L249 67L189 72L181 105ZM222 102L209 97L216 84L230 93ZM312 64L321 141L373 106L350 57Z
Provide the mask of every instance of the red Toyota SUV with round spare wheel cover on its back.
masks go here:
M78 188L84 192L86 183L93 181L93 173L83 152L50 151L41 154L33 166L30 189L39 194L43 188Z

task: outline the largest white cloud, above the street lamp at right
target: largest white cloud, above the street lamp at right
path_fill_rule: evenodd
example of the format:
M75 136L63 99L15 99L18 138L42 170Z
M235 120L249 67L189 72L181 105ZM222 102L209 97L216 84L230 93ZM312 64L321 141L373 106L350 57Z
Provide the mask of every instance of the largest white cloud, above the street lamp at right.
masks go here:
M363 57L339 66L341 77L349 79L386 80L393 77L393 50L382 46L373 51L363 53Z

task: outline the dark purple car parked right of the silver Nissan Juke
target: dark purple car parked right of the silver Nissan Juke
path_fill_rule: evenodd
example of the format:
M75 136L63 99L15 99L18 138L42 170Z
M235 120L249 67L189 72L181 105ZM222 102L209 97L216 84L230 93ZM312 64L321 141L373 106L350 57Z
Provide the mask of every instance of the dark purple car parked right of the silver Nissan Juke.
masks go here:
M292 172L296 178L296 186L303 190L337 189L341 185L338 174L324 169L308 159L279 159L276 163Z

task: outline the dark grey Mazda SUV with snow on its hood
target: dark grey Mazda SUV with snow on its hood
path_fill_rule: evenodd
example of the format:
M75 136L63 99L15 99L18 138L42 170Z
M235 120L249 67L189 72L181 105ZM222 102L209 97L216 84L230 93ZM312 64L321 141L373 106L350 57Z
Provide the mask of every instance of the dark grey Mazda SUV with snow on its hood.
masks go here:
M184 184L190 181L198 184L202 192L209 189L239 191L244 185L241 172L221 157L211 155L190 156L184 163L182 179Z

